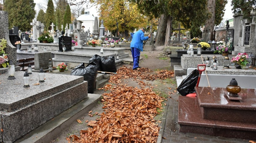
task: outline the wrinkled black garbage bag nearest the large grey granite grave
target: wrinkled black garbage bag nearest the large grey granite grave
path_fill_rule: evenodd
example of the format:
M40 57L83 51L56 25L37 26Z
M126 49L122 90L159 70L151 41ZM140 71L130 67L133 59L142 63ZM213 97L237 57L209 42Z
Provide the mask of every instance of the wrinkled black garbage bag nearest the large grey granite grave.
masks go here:
M92 62L84 67L84 63L79 64L71 71L72 76L84 76L84 81L88 82L88 93L94 93L94 87L97 77L97 64Z

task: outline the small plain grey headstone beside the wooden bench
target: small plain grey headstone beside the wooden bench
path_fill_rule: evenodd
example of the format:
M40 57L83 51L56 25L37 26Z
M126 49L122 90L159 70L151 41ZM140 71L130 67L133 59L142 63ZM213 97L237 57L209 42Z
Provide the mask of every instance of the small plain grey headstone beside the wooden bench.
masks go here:
M48 69L49 59L52 60L51 52L38 52L35 53L35 70Z

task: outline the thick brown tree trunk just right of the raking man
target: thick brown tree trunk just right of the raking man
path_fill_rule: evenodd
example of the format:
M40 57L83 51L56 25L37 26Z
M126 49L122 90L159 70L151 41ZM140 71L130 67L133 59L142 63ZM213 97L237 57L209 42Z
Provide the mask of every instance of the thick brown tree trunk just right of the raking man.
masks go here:
M166 27L167 27L167 14L162 14L160 16L159 22L158 22L158 28L157 28L157 35L156 35L156 46L164 45L165 42L165 33L166 33Z

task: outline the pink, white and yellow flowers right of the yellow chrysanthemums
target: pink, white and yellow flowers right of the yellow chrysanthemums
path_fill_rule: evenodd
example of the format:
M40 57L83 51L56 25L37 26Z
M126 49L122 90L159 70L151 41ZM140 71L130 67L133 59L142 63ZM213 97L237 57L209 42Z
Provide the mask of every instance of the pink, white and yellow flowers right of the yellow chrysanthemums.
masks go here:
M213 53L218 52L219 54L222 54L222 56L227 56L229 53L231 53L231 42L229 41L226 44L223 41L219 41L216 43L218 46L216 47L216 50Z

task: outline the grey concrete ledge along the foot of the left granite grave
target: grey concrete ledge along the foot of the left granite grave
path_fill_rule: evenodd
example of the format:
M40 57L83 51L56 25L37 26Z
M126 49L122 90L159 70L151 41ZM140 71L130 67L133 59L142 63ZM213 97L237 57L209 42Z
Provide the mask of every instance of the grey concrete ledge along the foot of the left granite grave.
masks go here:
M14 143L51 142L62 130L76 122L76 119L88 113L99 101L101 101L101 95L88 93L88 98L44 123Z

